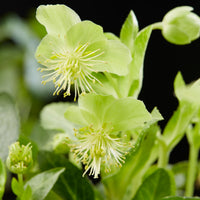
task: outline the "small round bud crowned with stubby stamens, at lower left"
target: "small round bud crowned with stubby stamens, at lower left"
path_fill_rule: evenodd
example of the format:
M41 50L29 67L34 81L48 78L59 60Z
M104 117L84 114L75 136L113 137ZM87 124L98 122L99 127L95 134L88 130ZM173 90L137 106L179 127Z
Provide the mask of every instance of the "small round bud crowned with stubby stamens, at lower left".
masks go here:
M9 147L9 154L6 160L8 169L15 174L24 174L33 163L31 144L20 145L13 143Z

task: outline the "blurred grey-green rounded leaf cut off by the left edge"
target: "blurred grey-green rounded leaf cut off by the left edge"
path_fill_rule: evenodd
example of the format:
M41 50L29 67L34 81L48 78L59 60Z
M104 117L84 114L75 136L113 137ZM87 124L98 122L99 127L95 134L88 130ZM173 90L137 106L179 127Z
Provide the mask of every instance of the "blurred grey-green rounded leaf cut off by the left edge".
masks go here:
M8 146L18 139L19 116L13 99L6 93L0 94L0 158L8 155Z

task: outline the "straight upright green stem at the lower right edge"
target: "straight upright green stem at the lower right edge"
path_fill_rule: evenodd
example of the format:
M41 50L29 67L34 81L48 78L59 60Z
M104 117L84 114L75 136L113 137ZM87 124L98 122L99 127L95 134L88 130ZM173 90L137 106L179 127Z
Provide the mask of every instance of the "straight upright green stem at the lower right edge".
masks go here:
M185 189L185 196L188 196L188 197L192 197L193 192L194 192L194 183L195 183L195 177L197 173L197 164L198 164L198 153L199 153L199 149L196 148L194 145L190 144L187 181L186 181L186 189Z

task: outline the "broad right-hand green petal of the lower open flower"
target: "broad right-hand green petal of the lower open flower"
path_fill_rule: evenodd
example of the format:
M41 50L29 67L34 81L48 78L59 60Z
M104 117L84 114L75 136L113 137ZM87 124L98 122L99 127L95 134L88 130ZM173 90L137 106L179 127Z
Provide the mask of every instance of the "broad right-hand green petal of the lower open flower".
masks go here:
M142 101L132 97L114 101L106 110L104 121L111 122L114 130L131 130L144 126L151 115Z

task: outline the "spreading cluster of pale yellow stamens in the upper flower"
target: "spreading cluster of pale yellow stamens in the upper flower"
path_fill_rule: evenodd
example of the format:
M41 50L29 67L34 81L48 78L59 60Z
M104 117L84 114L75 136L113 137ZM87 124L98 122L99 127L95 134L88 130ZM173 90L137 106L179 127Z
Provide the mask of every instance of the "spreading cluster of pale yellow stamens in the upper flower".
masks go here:
M94 69L96 64L104 63L104 61L98 60L98 57L104 52L101 52L100 49L87 51L88 46L89 43L79 44L74 50L61 49L59 52L52 52L52 56L44 62L48 67L38 69L41 72L48 72L42 76L42 78L47 78L42 81L42 84L53 81L56 88L54 95L59 95L61 90L64 90L64 97L71 95L71 85L74 85L74 100L77 95L92 92L90 81L101 84L92 75L92 72L97 72Z

